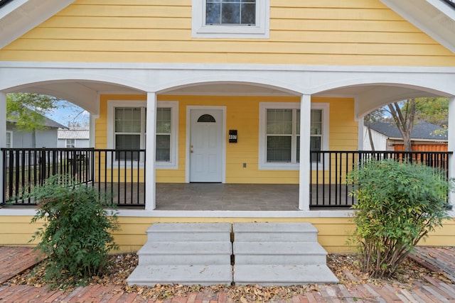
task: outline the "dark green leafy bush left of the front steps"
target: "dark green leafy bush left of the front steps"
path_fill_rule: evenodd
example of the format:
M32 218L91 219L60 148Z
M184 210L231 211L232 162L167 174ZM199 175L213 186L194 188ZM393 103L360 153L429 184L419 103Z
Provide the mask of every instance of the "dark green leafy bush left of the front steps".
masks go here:
M32 222L43 219L32 240L41 239L36 250L47 257L45 280L50 285L77 285L101 275L108 253L117 249L109 231L118 230L115 213L108 216L106 201L95 187L74 184L55 175L36 187L38 210Z

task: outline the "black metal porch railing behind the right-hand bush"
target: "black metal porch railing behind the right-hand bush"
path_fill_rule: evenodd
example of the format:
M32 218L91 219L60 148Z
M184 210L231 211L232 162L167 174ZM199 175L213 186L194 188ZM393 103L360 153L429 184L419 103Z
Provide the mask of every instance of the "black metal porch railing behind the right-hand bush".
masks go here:
M349 195L352 185L346 175L362 161L394 159L421 163L444 172L449 177L452 152L405 151L311 151L310 208L346 208L355 204Z

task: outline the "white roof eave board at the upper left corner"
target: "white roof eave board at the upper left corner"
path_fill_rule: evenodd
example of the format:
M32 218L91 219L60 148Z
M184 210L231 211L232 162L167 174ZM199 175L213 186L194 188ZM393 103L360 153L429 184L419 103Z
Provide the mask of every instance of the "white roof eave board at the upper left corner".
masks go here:
M31 31L75 0L14 0L0 9L0 48Z

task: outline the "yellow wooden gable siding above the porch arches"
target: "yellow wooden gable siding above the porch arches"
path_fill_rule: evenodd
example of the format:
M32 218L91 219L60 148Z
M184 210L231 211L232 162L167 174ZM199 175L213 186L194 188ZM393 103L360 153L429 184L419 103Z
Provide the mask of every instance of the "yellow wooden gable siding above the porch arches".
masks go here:
M455 66L379 0L271 0L268 39L191 38L191 0L75 1L0 60Z

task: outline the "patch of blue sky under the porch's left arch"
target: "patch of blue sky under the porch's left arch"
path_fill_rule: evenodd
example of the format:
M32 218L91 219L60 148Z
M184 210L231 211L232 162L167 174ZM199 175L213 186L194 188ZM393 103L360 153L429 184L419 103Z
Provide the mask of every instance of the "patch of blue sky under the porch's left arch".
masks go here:
M80 126L88 126L89 123L89 113L68 101L60 101L58 109L45 114L45 116L53 121L63 124L64 126L68 126L70 123L78 123Z

